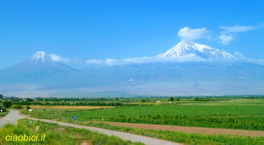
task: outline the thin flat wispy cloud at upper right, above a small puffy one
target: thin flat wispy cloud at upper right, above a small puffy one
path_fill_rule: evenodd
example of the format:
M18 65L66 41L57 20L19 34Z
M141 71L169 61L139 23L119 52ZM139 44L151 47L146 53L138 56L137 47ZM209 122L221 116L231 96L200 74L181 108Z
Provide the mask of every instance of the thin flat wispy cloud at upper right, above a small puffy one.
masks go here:
M249 30L254 30L254 29L259 29L261 27L258 26L232 26L232 27L224 27L220 26L220 29L224 29L225 31L220 32L220 34L225 34L225 33L238 33L238 32L245 32Z

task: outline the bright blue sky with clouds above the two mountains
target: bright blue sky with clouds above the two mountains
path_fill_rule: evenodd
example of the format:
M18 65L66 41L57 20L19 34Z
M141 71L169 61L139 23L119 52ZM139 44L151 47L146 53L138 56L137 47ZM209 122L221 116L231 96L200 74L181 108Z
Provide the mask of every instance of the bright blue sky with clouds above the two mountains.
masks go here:
M263 1L0 1L0 70L37 51L72 67L183 40L264 59Z

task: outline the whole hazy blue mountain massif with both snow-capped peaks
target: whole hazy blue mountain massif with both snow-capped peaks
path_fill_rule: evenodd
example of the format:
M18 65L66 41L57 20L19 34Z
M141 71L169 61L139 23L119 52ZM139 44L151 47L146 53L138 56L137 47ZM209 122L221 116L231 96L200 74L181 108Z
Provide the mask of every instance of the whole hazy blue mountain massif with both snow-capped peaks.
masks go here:
M161 57L195 53L231 58L229 53L192 43ZM174 55L173 55L174 52ZM209 53L209 54L207 54ZM163 56L164 55L164 56ZM263 65L237 59L94 65L82 69L54 62L45 52L0 70L0 92L9 96L140 96L263 94Z

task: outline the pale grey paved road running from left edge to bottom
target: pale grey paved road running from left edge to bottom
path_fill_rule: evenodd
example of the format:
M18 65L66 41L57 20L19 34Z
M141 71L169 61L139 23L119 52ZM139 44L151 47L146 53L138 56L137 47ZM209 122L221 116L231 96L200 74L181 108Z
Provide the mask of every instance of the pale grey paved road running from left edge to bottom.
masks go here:
M12 123L12 124L16 124L18 119L21 118L27 118L23 115L20 114L19 111L16 110L9 110L10 113L8 115L6 115L6 117L0 119L0 127L3 126L3 124L6 123ZM89 127L89 126L80 126L80 125L75 125L75 124L70 124L70 123L64 123L64 122L57 122L57 121L51 121L51 120L46 120L46 119L36 119L36 118L30 118L29 119L32 120L40 120L40 121L45 121L45 122L52 122L52 123L58 123L59 125L65 125L65 126L73 126L75 128L85 128L85 129L89 129L90 131L97 131L103 134L107 134L109 136L113 135L113 136L118 136L124 140L131 140L132 142L136 142L136 141L140 141L143 142L144 144L162 144L162 145L181 145L181 144L177 144L171 141L164 141L161 139L156 139L156 138L152 138L152 137L147 137L147 136L140 136L140 135L136 135L136 134L129 134L129 133L125 133L125 132L119 132L119 131L112 131L112 130L108 130L108 129L103 129L103 128L96 128L96 127ZM4 121L6 120L6 121Z

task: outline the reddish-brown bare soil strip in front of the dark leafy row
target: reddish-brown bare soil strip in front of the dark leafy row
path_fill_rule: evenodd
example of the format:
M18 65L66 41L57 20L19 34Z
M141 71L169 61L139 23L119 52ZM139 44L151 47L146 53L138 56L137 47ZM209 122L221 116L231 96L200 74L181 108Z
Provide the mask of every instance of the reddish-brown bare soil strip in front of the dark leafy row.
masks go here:
M83 122L89 123L90 121L83 121ZM92 122L94 122L94 123L106 123L106 124L110 124L113 126L125 126L125 127L154 129L154 130L182 131L182 132L186 132L186 133L223 134L223 135L239 135L239 136L251 136L251 137L264 136L264 131L203 128L203 127L186 127L186 126L169 126L169 125L138 124L138 123L103 122L103 121L92 121Z

